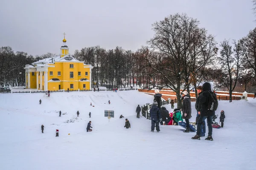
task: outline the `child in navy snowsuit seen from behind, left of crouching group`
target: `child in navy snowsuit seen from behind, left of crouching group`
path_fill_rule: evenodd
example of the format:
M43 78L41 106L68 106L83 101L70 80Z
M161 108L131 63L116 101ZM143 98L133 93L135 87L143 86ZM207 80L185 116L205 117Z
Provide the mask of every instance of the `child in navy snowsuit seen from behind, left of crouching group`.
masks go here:
M157 101L153 102L153 106L150 109L149 113L151 116L151 132L154 132L155 125L156 125L157 132L159 132L160 131L159 122L162 121L162 117L160 114L160 109L158 108Z

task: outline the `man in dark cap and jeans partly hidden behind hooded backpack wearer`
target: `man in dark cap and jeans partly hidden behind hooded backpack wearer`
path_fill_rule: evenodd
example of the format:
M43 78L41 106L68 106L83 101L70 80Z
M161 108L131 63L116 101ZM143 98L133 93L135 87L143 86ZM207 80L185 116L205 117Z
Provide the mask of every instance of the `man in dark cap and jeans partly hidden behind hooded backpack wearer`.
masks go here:
M195 110L197 112L196 114L196 119L195 119L195 125L197 125L198 120L200 118L200 115L198 114L198 111L202 110L202 105L200 103L199 105L199 99L201 97L201 95L203 94L203 87L200 85L197 87L197 92L198 92L198 97L196 98L196 102L195 102ZM202 126L201 126L201 133L200 133L200 137L204 137L205 136L205 121L202 122Z

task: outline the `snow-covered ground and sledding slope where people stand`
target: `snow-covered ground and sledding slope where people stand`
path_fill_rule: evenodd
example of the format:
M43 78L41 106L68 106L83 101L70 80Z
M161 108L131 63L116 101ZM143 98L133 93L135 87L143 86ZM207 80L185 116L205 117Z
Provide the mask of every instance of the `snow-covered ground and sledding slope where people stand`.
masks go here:
M152 100L138 91L59 92L49 98L0 94L0 170L256 169L256 99L219 102L216 113L224 109L226 119L224 128L213 129L214 141L192 140L195 133L183 133L179 126L150 132L151 121L137 119L135 110ZM65 114L58 117L60 110ZM115 118L108 122L104 110L115 111ZM121 114L130 129L124 128ZM65 123L70 119L74 122ZM93 131L87 133L89 120Z

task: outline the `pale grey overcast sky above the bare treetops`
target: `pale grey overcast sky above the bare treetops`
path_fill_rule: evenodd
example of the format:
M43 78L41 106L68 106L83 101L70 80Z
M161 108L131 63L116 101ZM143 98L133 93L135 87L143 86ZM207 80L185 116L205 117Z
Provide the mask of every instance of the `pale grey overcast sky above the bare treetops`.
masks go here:
M65 32L70 54L100 45L136 51L151 24L186 13L220 42L255 28L251 0L0 0L0 47L32 55L60 54Z

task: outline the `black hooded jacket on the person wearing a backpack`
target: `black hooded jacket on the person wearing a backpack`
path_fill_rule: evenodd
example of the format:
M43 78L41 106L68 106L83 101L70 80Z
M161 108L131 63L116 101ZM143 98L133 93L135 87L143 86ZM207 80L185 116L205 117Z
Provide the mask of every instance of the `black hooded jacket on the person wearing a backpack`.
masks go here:
M215 111L211 111L207 109L207 105L209 103L209 97L210 93L213 93L211 91L211 85L209 82L205 82L203 84L203 93L202 96L199 99L199 102L202 104L202 109L200 111L201 116L214 116Z

